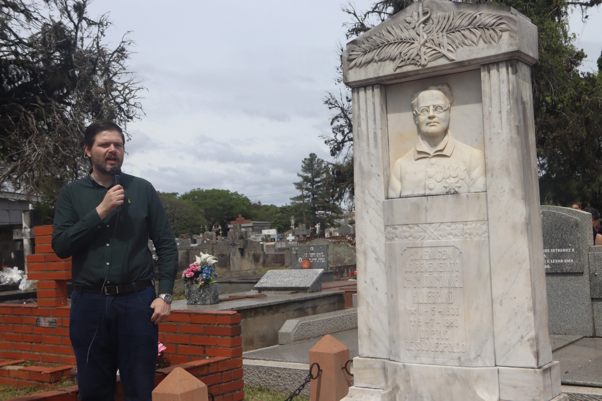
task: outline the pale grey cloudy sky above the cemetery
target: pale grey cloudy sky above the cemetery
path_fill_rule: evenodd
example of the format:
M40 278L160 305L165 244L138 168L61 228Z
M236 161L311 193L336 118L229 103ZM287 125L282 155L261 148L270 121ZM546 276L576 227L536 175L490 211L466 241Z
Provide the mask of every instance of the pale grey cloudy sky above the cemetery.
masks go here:
M318 136L330 133L321 98L338 91L335 48L349 20L341 2L93 2L91 16L108 12L114 22L108 41L132 31L129 66L146 87L146 116L128 126L123 171L158 191L220 188L287 203L303 158L331 159ZM601 23L599 10L585 25L580 13L571 17L584 69L595 69Z

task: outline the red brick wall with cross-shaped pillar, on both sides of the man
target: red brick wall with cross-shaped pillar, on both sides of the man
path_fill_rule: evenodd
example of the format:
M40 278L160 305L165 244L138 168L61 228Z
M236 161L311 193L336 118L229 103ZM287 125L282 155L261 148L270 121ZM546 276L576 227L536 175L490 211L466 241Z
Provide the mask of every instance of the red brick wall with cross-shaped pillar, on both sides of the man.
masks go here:
M36 254L29 255L27 262L28 278L39 280L38 301L37 304L0 304L0 357L75 364L69 340L67 305L71 262L52 253L49 245L52 226L36 227L34 233ZM38 317L57 319L57 326L38 326ZM159 340L167 347L164 355L172 364L223 357L205 384L216 396L216 401L222 401L218 394L223 396L223 401L241 397L240 394L234 396L243 388L240 314L235 311L172 310L166 322L159 325ZM0 377L0 384L19 386L19 378ZM29 384L23 382L22 385Z

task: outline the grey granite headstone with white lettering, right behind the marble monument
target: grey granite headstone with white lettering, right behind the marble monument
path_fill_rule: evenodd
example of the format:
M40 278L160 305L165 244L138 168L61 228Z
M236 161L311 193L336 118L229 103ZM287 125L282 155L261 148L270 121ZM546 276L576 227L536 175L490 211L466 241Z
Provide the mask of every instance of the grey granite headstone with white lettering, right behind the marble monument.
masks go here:
M541 215L550 332L594 335L588 257L594 245L592 216L558 206L541 206Z

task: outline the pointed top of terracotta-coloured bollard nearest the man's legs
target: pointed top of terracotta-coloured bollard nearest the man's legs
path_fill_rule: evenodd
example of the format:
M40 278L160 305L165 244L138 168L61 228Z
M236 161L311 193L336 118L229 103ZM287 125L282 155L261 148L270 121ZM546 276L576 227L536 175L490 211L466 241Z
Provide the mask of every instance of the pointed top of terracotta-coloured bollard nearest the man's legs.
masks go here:
M208 401L208 390L205 383L176 367L152 391L152 401Z

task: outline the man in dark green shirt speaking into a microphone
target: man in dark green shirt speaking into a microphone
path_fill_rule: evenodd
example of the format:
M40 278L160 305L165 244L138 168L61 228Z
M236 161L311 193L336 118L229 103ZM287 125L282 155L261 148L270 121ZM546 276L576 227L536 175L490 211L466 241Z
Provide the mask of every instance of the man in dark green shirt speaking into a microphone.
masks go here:
M126 400L151 400L158 323L170 313L178 248L151 183L111 169L123 163L117 124L97 121L85 132L92 169L64 186L55 209L52 249L72 256L70 338L82 399L111 400L119 369ZM148 239L159 257L159 297Z

